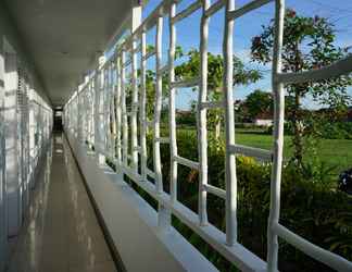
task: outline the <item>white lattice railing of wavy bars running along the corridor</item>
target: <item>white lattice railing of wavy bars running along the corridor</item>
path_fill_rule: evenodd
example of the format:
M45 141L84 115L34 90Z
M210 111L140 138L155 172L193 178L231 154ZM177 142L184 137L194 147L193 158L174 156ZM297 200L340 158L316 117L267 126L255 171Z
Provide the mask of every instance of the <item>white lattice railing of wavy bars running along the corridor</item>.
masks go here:
M159 224L169 227L169 213L176 215L192 231L212 245L226 259L244 271L276 271L278 262L278 237L299 248L312 258L324 262L339 271L352 271L352 263L338 255L322 249L279 224L280 182L284 147L284 84L329 78L352 71L352 60L348 58L336 64L299 74L281 73L281 48L284 36L285 0L254 0L239 9L234 0L219 0L210 4L209 0L194 1L184 11L176 13L179 1L165 0L147 17L139 27L116 50L105 64L65 106L65 126L78 139L87 139L98 153L114 158L117 171L121 171L143 188L159 202ZM275 46L273 61L273 92L275 99L273 151L239 146L235 143L234 97L232 97L232 36L234 21L252 10L269 2L275 2ZM225 8L225 35L223 57L224 103L212 103L208 98L208 39L209 18ZM176 24L197 10L202 11L200 33L200 75L197 78L175 81ZM162 66L163 18L168 17L168 62ZM151 27L156 27L155 50L147 52L146 35ZM235 29L236 32L236 29ZM126 60L130 53L130 60ZM137 73L138 55L140 55L140 75ZM146 116L146 70L147 59L155 55L156 89L154 118ZM126 71L131 70L131 107L126 107ZM162 107L162 73L168 71L168 122L169 137L161 138L160 118ZM190 161L177 152L175 91L183 87L199 87L198 104L198 151L199 161ZM116 104L116 107L115 107ZM226 190L208 184L208 137L206 111L213 108L225 109L226 131ZM139 118L138 118L139 116ZM109 121L112 121L110 123ZM153 127L153 170L147 168L147 127ZM138 139L139 129L139 139ZM129 139L130 136L130 139ZM139 140L139 143L138 143ZM129 144L131 146L129 150ZM161 173L160 145L169 145L171 150L171 194L163 190ZM267 262L246 249L237 242L237 176L236 154L249 154L263 160L273 160L271 185L271 214L268 219L268 255ZM140 161L139 161L140 156ZM190 211L177 200L177 165L181 164L199 171L199 210ZM140 169L140 171L139 171ZM147 182L151 177L155 185ZM226 201L226 233L221 232L208 222L206 195L213 194Z

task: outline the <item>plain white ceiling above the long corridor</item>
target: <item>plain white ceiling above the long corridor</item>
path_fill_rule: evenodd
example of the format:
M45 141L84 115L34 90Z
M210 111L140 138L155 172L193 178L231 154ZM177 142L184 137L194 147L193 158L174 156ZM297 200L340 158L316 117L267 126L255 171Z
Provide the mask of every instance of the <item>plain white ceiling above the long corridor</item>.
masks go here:
M53 104L63 104L136 0L5 0Z

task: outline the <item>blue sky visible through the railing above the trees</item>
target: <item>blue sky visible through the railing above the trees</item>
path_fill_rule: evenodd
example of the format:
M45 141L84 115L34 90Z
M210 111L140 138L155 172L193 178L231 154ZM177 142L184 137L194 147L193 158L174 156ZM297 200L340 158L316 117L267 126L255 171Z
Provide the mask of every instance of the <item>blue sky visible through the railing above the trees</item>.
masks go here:
M181 11L194 0L184 0L178 4L177 12ZM212 0L213 3L215 0ZM150 14L161 0L150 0L144 7L143 18ZM250 0L236 0L236 7L241 7ZM335 24L337 30L336 45L339 47L352 46L352 1L343 0L287 0L287 8L292 8L299 15L314 16L319 15L329 18ZM244 99L256 88L271 91L271 66L263 66L251 62L250 46L251 38L261 33L262 25L267 25L274 16L274 2L262 7L247 15L237 18L234 27L234 53L239 57L248 67L259 69L264 78L255 84L248 86L235 86L234 95L236 99ZM194 12L191 16L180 21L176 25L177 45L188 51L191 48L199 48L201 11ZM167 61L168 48L168 22L164 18L163 25L163 63ZM212 53L222 53L222 42L224 33L224 10L218 11L210 20L209 51ZM153 45L155 39L155 28L147 33L147 44ZM180 60L183 61L183 60ZM148 61L149 69L154 69L154 59ZM352 88L349 89L352 95ZM191 100L197 99L197 91L191 89L181 89L177 94L176 107L188 109ZM312 99L304 100L306 108L317 108Z

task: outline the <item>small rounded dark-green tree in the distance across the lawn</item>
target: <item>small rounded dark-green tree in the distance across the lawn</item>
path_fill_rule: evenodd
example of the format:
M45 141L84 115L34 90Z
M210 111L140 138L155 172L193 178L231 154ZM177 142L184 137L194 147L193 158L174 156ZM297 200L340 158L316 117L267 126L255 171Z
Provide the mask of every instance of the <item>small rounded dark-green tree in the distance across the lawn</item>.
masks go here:
M251 120L263 113L272 113L273 106L273 95L260 89L255 89L248 95L243 102L243 107L246 107L248 116Z

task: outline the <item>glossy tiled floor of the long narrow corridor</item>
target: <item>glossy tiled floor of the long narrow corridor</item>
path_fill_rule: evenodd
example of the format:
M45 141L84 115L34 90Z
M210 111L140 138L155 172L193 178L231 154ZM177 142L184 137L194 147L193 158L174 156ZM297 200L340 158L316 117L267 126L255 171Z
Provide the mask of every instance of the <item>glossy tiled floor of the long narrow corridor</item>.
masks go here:
M115 272L81 176L61 135L53 136L43 164L8 271Z

